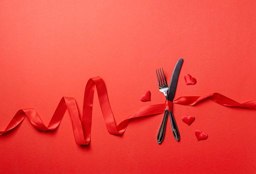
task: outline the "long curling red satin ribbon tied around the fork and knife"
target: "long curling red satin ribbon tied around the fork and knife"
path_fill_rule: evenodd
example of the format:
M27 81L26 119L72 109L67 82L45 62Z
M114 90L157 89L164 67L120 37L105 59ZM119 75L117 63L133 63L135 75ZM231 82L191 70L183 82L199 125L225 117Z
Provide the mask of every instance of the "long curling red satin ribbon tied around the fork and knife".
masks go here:
M105 83L100 77L95 77L89 79L85 87L82 117L79 113L78 105L75 98L62 97L48 126L45 126L35 109L20 109L11 119L5 130L0 131L0 135L7 133L17 127L24 120L25 117L28 118L28 120L34 127L41 131L55 130L59 126L66 110L68 110L72 121L72 127L76 143L78 145L88 145L91 139L92 109L95 87L97 88L101 110L110 134L123 134L127 129L129 121L131 121L132 119L157 115L163 113L165 108L167 108L168 110L172 110L172 102L168 101L162 104L144 106L133 112L131 115L128 116L128 118L126 118L124 121L117 125L110 106ZM256 101L239 103L229 97L226 97L216 92L204 96L182 96L174 99L173 103L192 106L206 99L210 99L224 106L256 109Z

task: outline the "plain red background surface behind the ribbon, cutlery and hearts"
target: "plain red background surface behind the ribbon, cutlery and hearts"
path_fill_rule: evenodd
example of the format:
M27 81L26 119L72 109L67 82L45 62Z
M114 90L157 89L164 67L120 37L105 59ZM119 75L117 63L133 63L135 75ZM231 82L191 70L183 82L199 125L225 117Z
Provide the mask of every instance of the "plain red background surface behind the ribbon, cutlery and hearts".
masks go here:
M148 104L164 102L155 69L170 76L184 58L176 97L220 92L256 100L256 1L38 0L0 2L0 129L20 108L35 108L47 124L62 96L82 110L87 80L106 83L117 123ZM197 79L186 86L184 75ZM151 102L140 95L150 90ZM92 140L75 143L66 113L58 130L40 132L27 119L0 136L1 173L255 173L256 111L206 101L174 105L181 134L162 114L108 133L95 99ZM182 116L194 115L188 126ZM198 142L194 131L209 137Z

